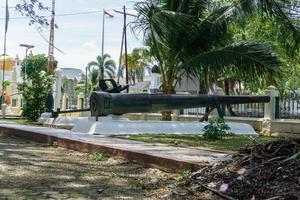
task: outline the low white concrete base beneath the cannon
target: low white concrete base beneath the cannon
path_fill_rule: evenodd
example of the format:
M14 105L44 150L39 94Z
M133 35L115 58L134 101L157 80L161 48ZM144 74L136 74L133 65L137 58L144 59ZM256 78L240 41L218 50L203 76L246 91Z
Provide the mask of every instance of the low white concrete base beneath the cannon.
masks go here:
M131 121L122 116L100 117L58 117L45 123L54 127L73 127L72 131L97 135L131 134L203 134L208 123L178 121ZM228 123L230 132L237 135L258 135L254 129L243 123Z

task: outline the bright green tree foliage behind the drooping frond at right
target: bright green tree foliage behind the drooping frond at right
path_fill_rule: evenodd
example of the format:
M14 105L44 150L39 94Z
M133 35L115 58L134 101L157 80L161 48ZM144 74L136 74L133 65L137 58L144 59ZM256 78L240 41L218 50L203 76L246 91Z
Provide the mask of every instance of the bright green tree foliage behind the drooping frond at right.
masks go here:
M251 92L257 93L270 84L275 85L281 94L300 87L300 46L293 37L285 37L281 29L282 26L275 19L267 16L250 16L230 26L229 32L235 42L249 39L265 42L273 47L282 61L280 71L277 72L279 78L273 83L268 79L237 75L238 80L243 81L246 89Z

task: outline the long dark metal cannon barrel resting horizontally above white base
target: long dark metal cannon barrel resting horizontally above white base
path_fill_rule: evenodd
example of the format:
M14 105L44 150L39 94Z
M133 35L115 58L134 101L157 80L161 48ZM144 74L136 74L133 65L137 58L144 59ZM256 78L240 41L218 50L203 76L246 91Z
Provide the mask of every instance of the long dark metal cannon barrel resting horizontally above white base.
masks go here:
M216 105L267 103L269 96L216 96L178 94L111 94L93 92L90 98L92 116L147 113Z

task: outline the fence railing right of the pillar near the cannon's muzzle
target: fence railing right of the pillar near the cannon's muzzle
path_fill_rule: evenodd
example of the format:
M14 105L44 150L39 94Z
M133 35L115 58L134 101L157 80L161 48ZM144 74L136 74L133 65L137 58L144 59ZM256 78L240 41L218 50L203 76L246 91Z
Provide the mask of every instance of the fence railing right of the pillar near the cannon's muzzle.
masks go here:
M276 119L300 119L300 97L276 97Z

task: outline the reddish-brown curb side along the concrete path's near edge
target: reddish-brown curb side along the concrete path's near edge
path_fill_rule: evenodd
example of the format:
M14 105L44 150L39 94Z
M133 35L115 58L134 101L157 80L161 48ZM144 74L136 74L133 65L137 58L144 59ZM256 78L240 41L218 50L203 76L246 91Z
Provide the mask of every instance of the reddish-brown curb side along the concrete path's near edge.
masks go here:
M110 156L119 156L127 160L143 164L147 167L156 167L168 172L180 172L183 169L198 170L209 165L206 162L194 163L180 159L174 159L167 156L158 156L145 152L132 151L127 149L115 148L106 145L93 144L79 140L59 138L42 133L25 131L17 128L0 126L0 133L14 135L30 139L36 142L57 144L59 147L68 148L85 153L102 152Z

